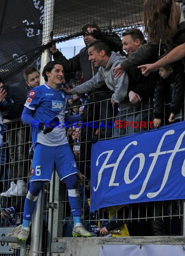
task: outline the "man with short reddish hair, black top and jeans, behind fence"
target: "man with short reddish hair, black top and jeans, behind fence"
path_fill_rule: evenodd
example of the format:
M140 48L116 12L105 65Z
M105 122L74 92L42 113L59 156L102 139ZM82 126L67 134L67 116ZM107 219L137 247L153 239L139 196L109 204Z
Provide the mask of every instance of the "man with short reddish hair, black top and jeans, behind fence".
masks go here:
M145 44L143 33L139 29L132 28L124 31L122 35L123 50L128 54L128 59L125 60L125 62L128 64L126 67L129 77L129 101L122 102L119 112L120 115L115 119L114 136L116 137L151 128L151 124L150 126L147 124L151 118L150 109L153 107L154 89L159 79L157 72L152 73L149 77L143 76L141 71L137 68L137 65L135 65L136 61L133 60L133 63L130 61L132 60L132 54L134 55L134 53ZM158 57L158 50L159 47L154 48L154 51L150 53L150 59L156 59ZM123 64L124 62L121 65ZM119 120L122 121L122 124L125 124L123 122L130 122L130 124L136 122L135 124L137 125L128 125L126 127L122 125L120 127L118 125ZM141 123L141 121L145 122L145 125L142 125L144 123Z

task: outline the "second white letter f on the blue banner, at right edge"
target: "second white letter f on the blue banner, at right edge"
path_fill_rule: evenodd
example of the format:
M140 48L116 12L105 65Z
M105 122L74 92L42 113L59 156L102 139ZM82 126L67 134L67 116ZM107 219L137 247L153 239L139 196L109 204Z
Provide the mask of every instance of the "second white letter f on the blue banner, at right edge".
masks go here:
M175 146L174 150L166 151L166 153L172 153L172 154L171 154L171 156L170 156L170 158L169 158L169 160L167 162L167 167L166 167L166 170L165 170L165 173L164 173L163 182L161 184L161 187L156 192L148 193L147 197L153 198L156 195L158 195L161 192L161 190L163 190L163 187L167 183L167 179L168 179L168 176L169 176L169 173L170 173L170 170L171 170L171 167L172 167L172 162L173 162L173 159L174 159L174 157L176 155L176 152L180 152L180 151L184 151L185 150L185 148L179 149L179 147L181 146L181 142L182 142L182 139L183 139L184 136L185 136L185 132L182 132L180 137L178 138L178 141L176 142L176 146Z

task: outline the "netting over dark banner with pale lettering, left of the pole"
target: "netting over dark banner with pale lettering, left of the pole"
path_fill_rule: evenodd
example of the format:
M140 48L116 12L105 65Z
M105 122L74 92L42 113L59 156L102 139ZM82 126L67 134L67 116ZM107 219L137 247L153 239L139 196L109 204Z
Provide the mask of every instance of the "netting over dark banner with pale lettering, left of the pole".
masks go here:
M2 0L0 76L8 81L42 52L44 1Z

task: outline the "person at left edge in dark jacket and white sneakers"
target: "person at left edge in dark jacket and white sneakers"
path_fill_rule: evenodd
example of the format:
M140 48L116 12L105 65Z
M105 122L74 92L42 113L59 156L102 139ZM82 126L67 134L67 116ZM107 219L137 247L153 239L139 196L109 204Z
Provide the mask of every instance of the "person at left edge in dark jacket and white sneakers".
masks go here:
M1 85L0 111L3 113L4 119L13 120L21 117L26 95L22 93L18 86L3 85L3 83ZM7 124L7 130L11 178L13 181L9 190L0 194L0 196L4 197L22 195L27 192L26 182L23 181L23 177L27 177L28 174L29 143L27 141L30 138L29 127L25 127L21 121Z

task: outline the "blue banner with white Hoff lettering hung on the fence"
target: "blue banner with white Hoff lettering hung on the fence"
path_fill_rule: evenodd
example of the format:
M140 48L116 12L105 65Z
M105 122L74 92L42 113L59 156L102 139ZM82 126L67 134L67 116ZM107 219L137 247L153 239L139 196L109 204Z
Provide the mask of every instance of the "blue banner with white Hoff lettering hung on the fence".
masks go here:
M91 212L185 199L185 121L98 141L91 154Z

